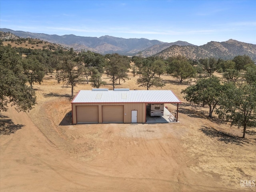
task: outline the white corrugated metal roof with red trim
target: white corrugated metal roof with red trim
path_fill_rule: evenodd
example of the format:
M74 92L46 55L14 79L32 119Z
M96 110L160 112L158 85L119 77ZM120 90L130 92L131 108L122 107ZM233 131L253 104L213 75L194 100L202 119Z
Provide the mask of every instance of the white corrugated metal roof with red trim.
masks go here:
M181 103L171 90L80 90L71 103Z

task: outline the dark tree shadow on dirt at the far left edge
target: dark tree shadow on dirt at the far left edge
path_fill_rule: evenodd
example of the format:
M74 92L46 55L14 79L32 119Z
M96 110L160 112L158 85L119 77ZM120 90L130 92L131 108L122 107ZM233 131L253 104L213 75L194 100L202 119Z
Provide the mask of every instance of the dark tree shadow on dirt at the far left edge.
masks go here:
M24 125L14 124L9 117L0 114L0 135L10 135L21 129Z

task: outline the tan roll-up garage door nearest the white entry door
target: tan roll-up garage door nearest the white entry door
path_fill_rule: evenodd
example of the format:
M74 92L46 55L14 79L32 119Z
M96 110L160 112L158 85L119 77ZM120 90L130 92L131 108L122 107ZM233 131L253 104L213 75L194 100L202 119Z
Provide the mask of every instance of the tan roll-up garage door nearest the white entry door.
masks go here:
M123 123L124 106L123 105L105 105L102 106L103 123Z

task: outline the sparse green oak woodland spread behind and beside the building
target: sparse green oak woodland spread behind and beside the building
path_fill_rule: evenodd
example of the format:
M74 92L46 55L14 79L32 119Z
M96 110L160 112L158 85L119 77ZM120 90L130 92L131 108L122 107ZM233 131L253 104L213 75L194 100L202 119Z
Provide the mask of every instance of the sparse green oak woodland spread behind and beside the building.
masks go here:
M76 52L33 39L10 41L12 45L0 45L0 111L7 110L8 103L19 111L30 110L36 104L33 85L40 84L45 75L56 74L58 83L71 86L73 96L74 86L85 82L95 88L111 83L114 89L116 84L129 81L128 72L138 76L140 87L164 88L166 83L172 83L161 78L167 74L188 86L182 90L185 100L209 106L209 117L216 109L219 118L244 128L243 138L246 127L256 126L256 65L249 56L235 56L232 60L191 60L180 55L143 58ZM17 47L19 44L25 47ZM42 48L34 48L38 44ZM31 48L26 48L28 45ZM222 78L215 73L222 74ZM109 79L102 80L102 74Z

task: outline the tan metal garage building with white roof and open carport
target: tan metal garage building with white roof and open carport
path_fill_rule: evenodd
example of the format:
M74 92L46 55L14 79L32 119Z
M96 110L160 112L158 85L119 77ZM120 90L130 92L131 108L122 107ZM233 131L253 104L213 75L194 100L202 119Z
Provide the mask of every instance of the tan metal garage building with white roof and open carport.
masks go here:
M80 90L72 100L73 124L146 123L147 104L177 104L171 90Z

